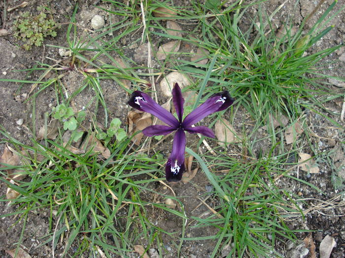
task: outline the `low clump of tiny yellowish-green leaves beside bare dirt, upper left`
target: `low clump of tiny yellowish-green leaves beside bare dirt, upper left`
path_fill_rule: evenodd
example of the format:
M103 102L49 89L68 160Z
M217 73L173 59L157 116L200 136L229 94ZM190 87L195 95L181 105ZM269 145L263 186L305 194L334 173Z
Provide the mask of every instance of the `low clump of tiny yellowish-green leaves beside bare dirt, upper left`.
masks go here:
M44 6L37 6L39 14L32 15L30 12L21 13L13 22L14 36L24 42L25 50L30 50L33 45L41 46L47 36L56 36L54 30L57 26L53 18L47 17L50 13Z

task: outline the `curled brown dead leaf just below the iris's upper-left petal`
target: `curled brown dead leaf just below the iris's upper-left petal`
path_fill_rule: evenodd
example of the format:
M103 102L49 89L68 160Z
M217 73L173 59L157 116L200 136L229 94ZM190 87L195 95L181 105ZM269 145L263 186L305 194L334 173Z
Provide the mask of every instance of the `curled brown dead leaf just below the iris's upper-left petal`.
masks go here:
M127 121L128 134L134 134L135 132L143 130L144 128L152 124L151 115L138 110L130 111L127 115ZM132 142L134 142L136 145L139 145L143 136L143 133L138 133L135 137L132 138Z

